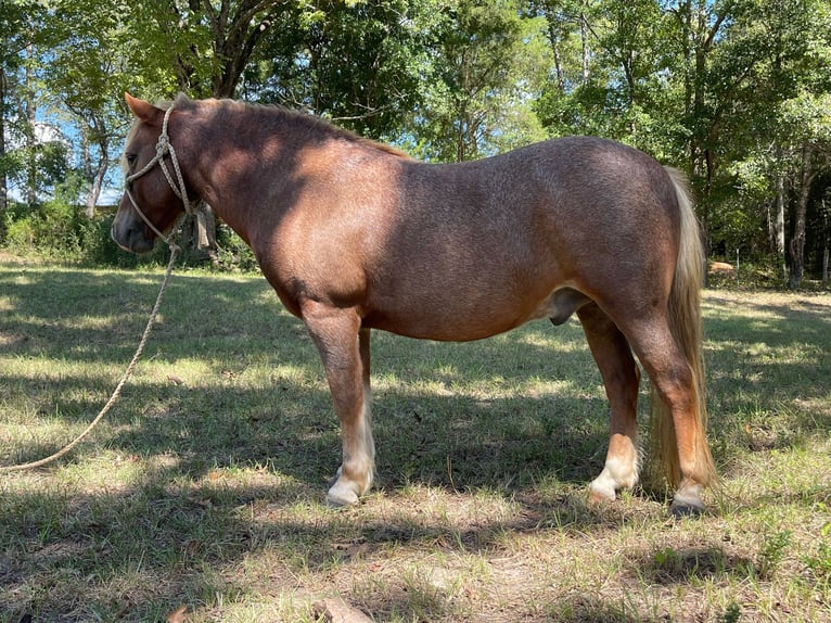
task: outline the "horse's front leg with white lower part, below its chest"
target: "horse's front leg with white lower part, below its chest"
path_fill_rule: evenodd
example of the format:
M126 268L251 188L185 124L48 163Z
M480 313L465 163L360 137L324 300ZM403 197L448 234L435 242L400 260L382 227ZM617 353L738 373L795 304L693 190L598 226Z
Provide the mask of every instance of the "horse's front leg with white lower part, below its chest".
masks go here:
M323 360L335 414L341 421L343 463L327 501L345 506L358 501L369 490L375 469L370 421L370 330L361 329L354 309L308 302L302 312Z

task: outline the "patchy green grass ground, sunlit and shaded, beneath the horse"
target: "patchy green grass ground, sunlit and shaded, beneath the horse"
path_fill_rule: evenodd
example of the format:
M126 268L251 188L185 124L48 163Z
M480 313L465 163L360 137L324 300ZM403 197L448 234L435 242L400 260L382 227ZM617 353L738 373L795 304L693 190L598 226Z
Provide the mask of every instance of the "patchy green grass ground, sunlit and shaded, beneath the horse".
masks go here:
M2 463L94 417L161 277L0 260ZM376 333L378 486L332 510L338 429L302 325L261 278L177 274L92 438L0 475L0 622L303 623L329 597L384 622L831 621L831 296L704 308L704 517L637 491L586 506L608 415L574 321Z

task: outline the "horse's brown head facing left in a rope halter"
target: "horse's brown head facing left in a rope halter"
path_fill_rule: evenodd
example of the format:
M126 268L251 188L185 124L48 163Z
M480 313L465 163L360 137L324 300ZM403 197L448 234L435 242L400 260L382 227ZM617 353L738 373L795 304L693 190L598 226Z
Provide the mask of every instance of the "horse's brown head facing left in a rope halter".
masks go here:
M190 209L190 202L183 180L174 170L178 164L166 134L169 113L129 93L125 98L136 120L122 161L125 191L111 233L122 249L145 253Z

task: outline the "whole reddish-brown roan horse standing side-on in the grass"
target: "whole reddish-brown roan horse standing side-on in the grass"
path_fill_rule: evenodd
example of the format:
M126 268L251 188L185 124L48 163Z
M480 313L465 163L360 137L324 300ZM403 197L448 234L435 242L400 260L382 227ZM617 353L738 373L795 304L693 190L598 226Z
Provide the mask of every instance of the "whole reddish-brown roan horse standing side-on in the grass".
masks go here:
M652 380L672 510L703 508L715 473L701 356L704 265L678 173L597 138L424 164L279 107L181 96L163 107L127 102L137 117L124 158L131 192L113 239L150 251L190 196L251 245L323 360L343 437L331 504L351 504L372 484L372 329L466 341L576 314L611 404L591 498L614 499L638 481L634 352ZM180 181L156 163L180 168Z

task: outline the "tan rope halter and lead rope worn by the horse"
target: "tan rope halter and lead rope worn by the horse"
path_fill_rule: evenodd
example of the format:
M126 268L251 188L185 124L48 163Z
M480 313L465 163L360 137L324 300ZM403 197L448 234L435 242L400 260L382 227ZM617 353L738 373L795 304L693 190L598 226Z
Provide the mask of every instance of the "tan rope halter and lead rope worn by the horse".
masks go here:
M130 182L135 180L138 177L141 177L145 173L148 173L153 165L156 163L159 164L162 167L162 170L165 174L165 177L167 178L167 182L170 185L170 188L172 188L176 195L182 200L182 203L184 204L184 211L188 214L193 214L194 209L191 205L190 201L188 200L188 193L184 189L184 178L182 177L181 169L179 168L179 161L176 157L176 152L174 151L172 145L170 144L170 139L167 136L167 119L170 117L170 111L172 110L172 106L170 106L167 112L165 113L165 120L162 126L162 134L158 136L158 142L156 143L156 155L140 171L128 176L126 178L127 183L125 185L125 191L127 193L127 196L130 199L130 203L132 203L132 206L136 208L136 212L139 213L141 218L144 220L144 223L158 236L162 240L164 240L167 245L170 247L170 259L167 263L167 270L165 271L165 278L162 281L162 287L158 290L158 296L156 296L156 302L153 305L153 310L150 313L150 318L148 319L148 326L144 328L144 333L141 335L141 340L139 341L139 346L136 348L136 354L132 356L132 359L130 360L130 364L127 366L127 369L124 371L124 374L122 376L122 380L118 381L118 384L115 386L115 390L113 390L113 394L110 396L110 399L106 402L106 404L101 408L98 416L95 416L95 419L93 419L89 425L84 430L82 433L80 433L75 440L66 444L63 448L54 453L53 455L50 455L46 458L42 458L40 460L27 462L27 463L20 463L14 466L0 466L0 473L4 472L11 472L11 471L22 471L27 469L35 469L42 467L47 463L50 463L54 460L57 460L68 452L71 452L75 446L77 446L84 438L92 432L92 429L98 425L98 423L104 418L104 416L110 411L110 409L113 407L115 402L118 399L118 397L122 395L122 387L124 387L125 383L130 379L132 376L132 372L136 370L136 365L139 363L139 358L141 357L142 352L144 351L144 345L148 343L148 339L150 338L150 332L153 329L153 325L156 321L156 316L158 316L158 309L162 306L162 298L164 298L165 291L167 290L167 284L170 282L170 275L174 271L174 264L176 263L176 256L179 254L179 246L176 245L172 241L172 234L170 237L164 236L156 227L150 223L150 219L144 216L144 213L139 208L139 206L136 203L136 200L132 196L132 192L129 189ZM170 160L174 164L174 169L176 170L176 177L177 181L179 182L179 188L176 188L176 183L174 183L172 177L167 170L167 167L164 163L165 155L170 154ZM174 233L176 232L177 228L174 228Z

